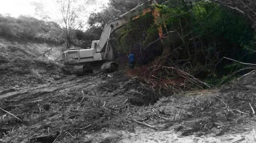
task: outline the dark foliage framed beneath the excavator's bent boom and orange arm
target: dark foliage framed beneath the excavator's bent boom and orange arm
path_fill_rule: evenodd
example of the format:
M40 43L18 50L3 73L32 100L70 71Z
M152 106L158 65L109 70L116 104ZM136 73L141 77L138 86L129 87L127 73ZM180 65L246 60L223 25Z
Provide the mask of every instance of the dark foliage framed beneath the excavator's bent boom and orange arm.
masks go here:
M160 42L154 44L150 49L143 49L147 43L159 38L157 27L154 23L153 16L146 14L135 21L123 26L116 32L114 40L117 54L127 54L133 52L139 64L147 63L154 60L156 56L161 55ZM136 40L135 40L136 39Z

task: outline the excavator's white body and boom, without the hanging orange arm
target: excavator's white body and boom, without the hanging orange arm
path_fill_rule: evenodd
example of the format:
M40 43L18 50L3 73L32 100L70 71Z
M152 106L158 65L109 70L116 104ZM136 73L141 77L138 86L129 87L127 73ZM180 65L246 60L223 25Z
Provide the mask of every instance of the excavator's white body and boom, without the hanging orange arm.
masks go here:
M142 4L143 5L143 4ZM110 37L113 32L118 28L125 25L134 16L141 15L141 11L137 11L142 5L135 7L134 9L119 16L117 19L107 23L101 33L100 39L92 41L91 48L81 49L72 48L63 52L63 61L66 66L83 66L83 69L96 69L99 65L101 68L111 67L116 65L113 61L113 48L109 44ZM151 9L147 9L143 14L151 12ZM108 62L108 63L106 63Z

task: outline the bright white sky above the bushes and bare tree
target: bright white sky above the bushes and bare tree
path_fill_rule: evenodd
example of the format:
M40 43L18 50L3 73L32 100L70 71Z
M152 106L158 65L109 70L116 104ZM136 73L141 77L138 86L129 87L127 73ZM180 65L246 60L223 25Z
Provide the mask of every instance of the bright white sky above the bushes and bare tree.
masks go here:
M88 14L100 11L104 5L108 4L108 0L95 1L96 3L94 5L87 7ZM26 15L40 18L38 15L36 15L35 7L31 5L32 2L44 4L45 12L51 16L51 20L55 21L59 17L56 0L0 0L0 14L8 14L12 17Z

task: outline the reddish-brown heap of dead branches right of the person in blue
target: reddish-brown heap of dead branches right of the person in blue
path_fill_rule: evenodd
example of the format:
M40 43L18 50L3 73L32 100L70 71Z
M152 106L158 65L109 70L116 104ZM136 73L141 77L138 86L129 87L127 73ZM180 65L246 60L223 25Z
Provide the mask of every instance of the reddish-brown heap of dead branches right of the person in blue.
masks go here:
M141 73L141 71L143 71ZM173 91L186 91L191 88L210 88L207 84L189 73L189 69L184 66L172 65L164 59L158 59L147 69L140 68L135 71L139 73L138 80L151 85L152 89L170 89Z

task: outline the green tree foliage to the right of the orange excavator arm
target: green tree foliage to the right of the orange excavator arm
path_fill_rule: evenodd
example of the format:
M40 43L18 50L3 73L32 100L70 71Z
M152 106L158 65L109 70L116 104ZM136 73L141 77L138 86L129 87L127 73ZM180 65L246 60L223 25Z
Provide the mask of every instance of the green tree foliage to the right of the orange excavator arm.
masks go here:
M177 52L170 53L173 59L190 59L193 67L200 63L208 70L223 56L244 62L255 60L251 52L254 50L254 30L245 17L233 10L207 1L168 1L161 10L167 29L175 31L168 39L175 44L170 46L171 51ZM222 73L223 67L227 72L239 68L227 65L228 62L221 62L218 68Z

